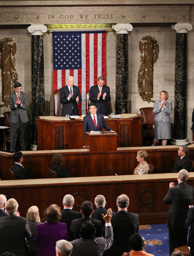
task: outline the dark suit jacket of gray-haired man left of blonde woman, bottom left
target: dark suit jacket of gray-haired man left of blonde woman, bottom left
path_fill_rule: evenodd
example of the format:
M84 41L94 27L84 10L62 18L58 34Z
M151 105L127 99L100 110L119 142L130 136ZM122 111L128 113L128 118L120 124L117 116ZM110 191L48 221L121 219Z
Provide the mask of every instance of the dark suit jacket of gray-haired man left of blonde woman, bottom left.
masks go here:
M26 239L30 239L31 231L28 220L16 215L0 218L0 255L5 252L16 256L27 256L28 246Z

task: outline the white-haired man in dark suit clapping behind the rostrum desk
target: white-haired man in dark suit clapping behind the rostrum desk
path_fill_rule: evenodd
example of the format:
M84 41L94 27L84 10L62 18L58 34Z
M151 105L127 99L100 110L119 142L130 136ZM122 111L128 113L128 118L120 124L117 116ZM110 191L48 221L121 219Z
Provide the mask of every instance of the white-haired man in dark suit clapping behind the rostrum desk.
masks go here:
M79 87L74 84L73 76L67 77L67 85L61 88L60 102L62 106L62 116L78 116L78 103L82 102Z

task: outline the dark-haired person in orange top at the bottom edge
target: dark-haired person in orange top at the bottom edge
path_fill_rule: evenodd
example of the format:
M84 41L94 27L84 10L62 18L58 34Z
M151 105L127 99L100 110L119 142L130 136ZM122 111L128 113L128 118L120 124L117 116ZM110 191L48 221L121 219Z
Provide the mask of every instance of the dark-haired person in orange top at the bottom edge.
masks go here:
M146 241L143 236L133 234L130 238L132 250L129 253L124 253L122 256L154 256L153 254L146 253Z

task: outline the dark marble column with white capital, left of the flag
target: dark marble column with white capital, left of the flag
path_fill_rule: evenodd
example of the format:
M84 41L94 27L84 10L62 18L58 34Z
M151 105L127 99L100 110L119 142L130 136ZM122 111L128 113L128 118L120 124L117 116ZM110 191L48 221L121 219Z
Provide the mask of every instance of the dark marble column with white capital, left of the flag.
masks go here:
M35 117L45 115L45 81L43 32L47 27L43 24L31 25L28 32L32 35L31 74L32 74L32 149L37 148L37 124Z

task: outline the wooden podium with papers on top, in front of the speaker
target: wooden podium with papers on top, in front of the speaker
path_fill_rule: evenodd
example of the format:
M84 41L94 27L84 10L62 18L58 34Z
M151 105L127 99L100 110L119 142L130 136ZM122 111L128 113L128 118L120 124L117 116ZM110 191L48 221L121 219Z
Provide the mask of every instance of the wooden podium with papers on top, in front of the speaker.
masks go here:
M86 132L86 146L90 146L90 151L116 151L117 133L104 132L90 133Z

